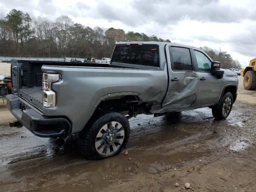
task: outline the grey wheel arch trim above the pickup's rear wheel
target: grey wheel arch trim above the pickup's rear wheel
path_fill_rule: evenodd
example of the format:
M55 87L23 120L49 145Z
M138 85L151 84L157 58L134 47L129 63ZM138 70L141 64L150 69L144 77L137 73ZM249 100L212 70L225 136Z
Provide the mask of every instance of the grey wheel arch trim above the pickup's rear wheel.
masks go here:
M92 113L90 114L90 116L92 116L94 114L94 111L96 110L97 106L100 104L100 102L102 102L103 100L108 100L108 99L112 99L112 98L117 98L119 96L128 96L128 95L133 95L133 96L137 96L140 101L142 101L142 95L138 92L116 92L116 93L109 93L106 94L102 97L100 97L97 102L94 104Z

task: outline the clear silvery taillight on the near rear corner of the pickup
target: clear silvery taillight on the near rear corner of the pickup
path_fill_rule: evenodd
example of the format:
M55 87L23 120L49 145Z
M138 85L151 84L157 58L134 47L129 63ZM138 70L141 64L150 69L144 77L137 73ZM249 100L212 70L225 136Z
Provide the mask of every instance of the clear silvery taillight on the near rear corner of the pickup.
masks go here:
M59 80L59 74L43 74L42 99L44 107L56 106L56 93L52 90L52 84Z

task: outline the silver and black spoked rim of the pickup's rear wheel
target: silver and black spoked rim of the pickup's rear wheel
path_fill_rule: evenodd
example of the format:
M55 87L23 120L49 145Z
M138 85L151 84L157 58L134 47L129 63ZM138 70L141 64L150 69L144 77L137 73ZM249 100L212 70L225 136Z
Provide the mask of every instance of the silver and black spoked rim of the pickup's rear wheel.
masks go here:
M124 128L119 122L109 122L100 128L96 139L96 151L102 156L110 156L117 152L124 142Z

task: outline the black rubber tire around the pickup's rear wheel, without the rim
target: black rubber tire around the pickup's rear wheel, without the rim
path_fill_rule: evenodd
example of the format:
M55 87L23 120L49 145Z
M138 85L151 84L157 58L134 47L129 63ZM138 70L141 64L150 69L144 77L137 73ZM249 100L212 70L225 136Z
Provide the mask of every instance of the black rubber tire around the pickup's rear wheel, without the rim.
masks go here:
M118 122L122 125L122 128L124 130L124 139L116 152L112 152L112 154L106 156L101 155L97 152L95 143L98 132L100 132L104 125L110 122ZM99 160L108 158L119 154L125 148L129 136L130 124L128 122L128 119L118 112L105 112L103 114L96 115L92 120L90 120L84 130L79 133L80 151L87 159Z

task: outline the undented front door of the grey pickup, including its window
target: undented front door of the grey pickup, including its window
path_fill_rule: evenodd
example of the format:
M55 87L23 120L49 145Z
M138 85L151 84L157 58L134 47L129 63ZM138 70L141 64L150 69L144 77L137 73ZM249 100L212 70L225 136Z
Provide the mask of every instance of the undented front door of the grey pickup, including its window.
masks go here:
M204 52L192 50L195 57L196 73L199 77L199 88L196 102L192 106L216 104L220 96L222 79L211 74L211 61Z

